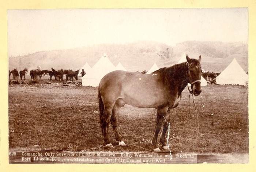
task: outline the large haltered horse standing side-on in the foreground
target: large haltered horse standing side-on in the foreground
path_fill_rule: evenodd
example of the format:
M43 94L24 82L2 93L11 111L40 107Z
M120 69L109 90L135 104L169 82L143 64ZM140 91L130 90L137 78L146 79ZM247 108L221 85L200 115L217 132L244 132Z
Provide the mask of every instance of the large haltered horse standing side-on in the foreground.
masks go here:
M108 137L109 120L119 145L125 145L117 130L117 116L121 107L129 104L140 108L157 109L157 122L152 140L154 151L160 151L157 145L158 133L163 125L160 142L163 149L169 149L165 136L170 123L173 108L181 100L181 92L191 84L193 95L200 95L201 73L199 59L161 68L150 75L136 72L113 71L105 75L99 83L98 99L100 123L106 146L112 147Z

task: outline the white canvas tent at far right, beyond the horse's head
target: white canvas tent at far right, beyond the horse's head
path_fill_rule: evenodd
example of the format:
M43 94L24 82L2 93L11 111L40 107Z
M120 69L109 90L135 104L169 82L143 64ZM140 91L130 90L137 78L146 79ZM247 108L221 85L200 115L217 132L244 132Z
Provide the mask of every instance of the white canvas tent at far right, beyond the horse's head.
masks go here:
M216 77L216 84L225 85L246 85L248 83L248 75L245 73L244 69L237 63L236 59L221 72L219 76Z

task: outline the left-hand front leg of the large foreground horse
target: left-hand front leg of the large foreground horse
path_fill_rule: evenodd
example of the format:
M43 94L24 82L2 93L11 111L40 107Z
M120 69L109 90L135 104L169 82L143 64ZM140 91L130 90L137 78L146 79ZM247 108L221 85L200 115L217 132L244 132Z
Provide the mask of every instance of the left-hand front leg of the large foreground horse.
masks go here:
M164 120L164 116L166 115L167 109L168 108L158 108L157 109L157 121L156 121L156 124L155 124L155 135L154 135L153 140L152 140L152 144L154 146L153 151L155 151L155 152L160 152L160 149L157 146L157 137L158 137L158 133L161 130L163 120Z

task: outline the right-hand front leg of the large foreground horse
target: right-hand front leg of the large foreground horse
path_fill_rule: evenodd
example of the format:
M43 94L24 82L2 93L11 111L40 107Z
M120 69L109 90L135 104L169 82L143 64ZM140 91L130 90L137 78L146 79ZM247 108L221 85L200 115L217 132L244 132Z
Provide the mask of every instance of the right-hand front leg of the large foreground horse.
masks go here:
M162 148L166 149L166 150L169 150L169 145L167 145L167 143L166 143L167 141L165 139L165 136L166 136L166 131L170 125L170 119L171 119L173 110L174 110L173 108L169 108L166 113L166 116L163 121L163 130L162 130L162 134L161 134L161 138L160 138L160 142L162 143Z

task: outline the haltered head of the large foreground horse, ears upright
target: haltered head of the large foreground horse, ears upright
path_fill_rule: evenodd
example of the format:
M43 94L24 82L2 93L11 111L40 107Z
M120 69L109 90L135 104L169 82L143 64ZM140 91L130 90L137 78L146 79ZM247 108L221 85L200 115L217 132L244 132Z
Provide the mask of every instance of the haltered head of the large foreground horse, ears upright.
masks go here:
M191 89L193 91L193 94L195 96L200 95L202 92L201 89L201 74L202 74L202 68L201 68L201 56L199 56L199 59L190 59L187 55L187 62L188 62L188 80L191 84Z

